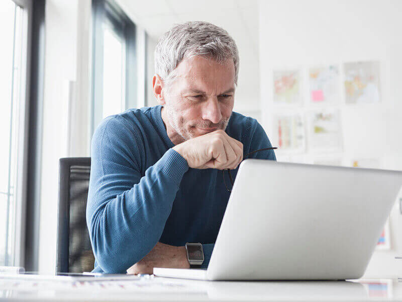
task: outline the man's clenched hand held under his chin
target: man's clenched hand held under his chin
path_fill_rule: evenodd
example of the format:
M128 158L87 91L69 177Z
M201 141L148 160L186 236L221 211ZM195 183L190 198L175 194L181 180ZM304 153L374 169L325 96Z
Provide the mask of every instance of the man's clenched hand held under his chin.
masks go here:
M236 169L243 160L243 144L224 130L186 140L173 149L196 169Z

